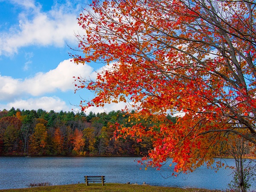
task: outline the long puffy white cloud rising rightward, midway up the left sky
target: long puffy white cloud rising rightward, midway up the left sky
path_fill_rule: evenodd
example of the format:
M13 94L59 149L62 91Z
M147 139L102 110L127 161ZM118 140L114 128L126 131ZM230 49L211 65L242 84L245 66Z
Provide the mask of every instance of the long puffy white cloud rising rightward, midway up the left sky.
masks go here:
M37 73L26 79L0 76L0 101L13 101L24 96L43 96L46 93L73 90L73 76L90 76L93 68L87 64L76 65L70 60L62 61L47 73Z

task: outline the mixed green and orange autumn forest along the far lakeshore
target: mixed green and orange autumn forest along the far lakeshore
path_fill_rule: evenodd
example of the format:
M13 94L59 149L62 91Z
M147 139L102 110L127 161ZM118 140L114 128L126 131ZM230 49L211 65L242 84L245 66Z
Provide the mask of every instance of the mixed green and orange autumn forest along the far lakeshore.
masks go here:
M0 155L144 156L151 138L116 137L118 125L133 124L122 111L0 111ZM175 121L174 117L168 116ZM150 122L141 122L150 123Z

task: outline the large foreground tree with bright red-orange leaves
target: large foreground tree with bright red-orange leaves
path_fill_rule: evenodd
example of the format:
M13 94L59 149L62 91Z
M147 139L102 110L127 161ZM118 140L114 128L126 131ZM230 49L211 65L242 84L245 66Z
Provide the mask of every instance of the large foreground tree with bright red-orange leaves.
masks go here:
M76 91L96 93L82 111L128 102L133 118L160 122L117 127L153 136L148 165L173 157L177 172L211 164L228 132L256 144L255 15L252 0L93 0L78 18L84 55L71 55L108 65L76 77Z

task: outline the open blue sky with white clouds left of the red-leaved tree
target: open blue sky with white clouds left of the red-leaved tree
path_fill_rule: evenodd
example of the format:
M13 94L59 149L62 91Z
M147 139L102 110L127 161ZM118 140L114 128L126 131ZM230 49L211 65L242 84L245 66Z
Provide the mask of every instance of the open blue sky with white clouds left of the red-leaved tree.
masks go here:
M88 90L74 93L73 76L96 78L103 64L76 65L70 49L83 34L77 17L86 0L0 0L0 110L79 111ZM77 54L77 53L76 53ZM124 103L89 108L119 110Z

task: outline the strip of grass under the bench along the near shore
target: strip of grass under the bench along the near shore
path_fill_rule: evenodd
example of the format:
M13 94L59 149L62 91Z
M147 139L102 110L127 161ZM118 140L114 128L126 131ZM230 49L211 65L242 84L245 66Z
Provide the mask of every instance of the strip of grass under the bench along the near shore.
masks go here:
M105 183L104 186L98 183L84 183L58 186L40 186L23 189L2 189L0 192L220 192L208 189L181 189L163 186L132 185L119 183Z

